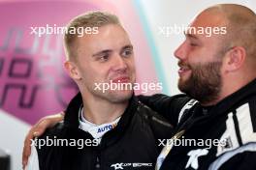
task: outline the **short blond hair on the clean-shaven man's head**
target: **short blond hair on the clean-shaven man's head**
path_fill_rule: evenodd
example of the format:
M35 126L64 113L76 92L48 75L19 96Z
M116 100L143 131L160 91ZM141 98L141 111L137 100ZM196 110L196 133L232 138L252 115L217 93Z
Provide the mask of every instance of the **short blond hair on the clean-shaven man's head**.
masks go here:
M67 25L67 31L64 35L64 48L66 53L66 59L76 59L77 56L78 44L75 43L79 35L77 32L75 34L71 34L71 29L78 29L80 27L83 27L84 29L86 29L87 27L100 28L108 24L121 25L116 15L106 12L88 12L85 14L80 14L73 18Z

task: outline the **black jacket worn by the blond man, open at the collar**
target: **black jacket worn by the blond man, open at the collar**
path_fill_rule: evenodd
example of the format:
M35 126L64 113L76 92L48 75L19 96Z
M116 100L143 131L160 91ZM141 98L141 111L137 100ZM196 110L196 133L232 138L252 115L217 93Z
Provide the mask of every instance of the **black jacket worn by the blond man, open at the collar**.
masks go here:
M67 107L64 122L57 124L40 139L90 139L90 133L79 128L80 94ZM99 105L100 106L100 105ZM136 97L121 116L115 128L102 137L97 146L37 147L41 170L153 170L161 152L159 140L169 138L172 126Z

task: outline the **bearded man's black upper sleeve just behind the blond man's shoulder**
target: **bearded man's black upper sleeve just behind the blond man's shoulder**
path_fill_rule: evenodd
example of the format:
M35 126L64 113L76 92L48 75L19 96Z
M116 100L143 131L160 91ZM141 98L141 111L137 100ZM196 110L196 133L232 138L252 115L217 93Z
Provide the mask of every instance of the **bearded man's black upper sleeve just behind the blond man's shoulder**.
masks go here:
M145 105L166 118L174 127L176 127L180 110L190 100L183 94L174 97L169 97L163 94L156 94L153 96L140 95L138 98Z

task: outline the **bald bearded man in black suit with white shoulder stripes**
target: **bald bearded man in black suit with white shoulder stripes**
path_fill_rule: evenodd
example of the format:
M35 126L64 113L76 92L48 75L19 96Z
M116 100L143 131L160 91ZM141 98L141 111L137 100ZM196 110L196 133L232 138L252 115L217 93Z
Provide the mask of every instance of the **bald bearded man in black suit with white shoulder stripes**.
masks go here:
M226 34L186 31L175 52L185 95L140 97L175 127L156 169L256 169L256 14L215 5L190 27Z

